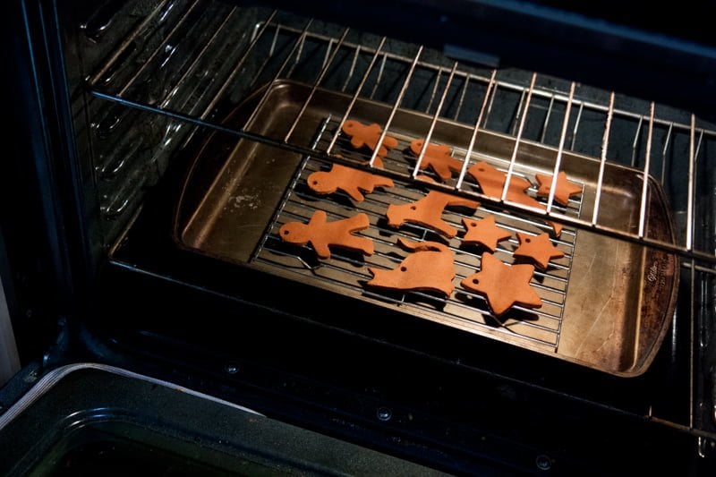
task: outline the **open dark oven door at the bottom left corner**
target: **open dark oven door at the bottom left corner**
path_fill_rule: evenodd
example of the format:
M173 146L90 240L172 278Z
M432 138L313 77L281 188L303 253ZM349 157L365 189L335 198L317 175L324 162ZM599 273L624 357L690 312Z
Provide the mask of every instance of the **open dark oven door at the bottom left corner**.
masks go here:
M37 379L0 418L0 445L3 475L442 474L192 389L89 363Z

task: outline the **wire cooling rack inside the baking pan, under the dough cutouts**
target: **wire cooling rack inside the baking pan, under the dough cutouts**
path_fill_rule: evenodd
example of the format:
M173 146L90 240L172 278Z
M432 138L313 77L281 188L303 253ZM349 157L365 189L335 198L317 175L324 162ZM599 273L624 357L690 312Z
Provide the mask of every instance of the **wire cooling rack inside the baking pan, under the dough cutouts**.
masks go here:
M316 150L325 150L330 146L337 146L342 157L364 163L370 160L370 155L354 149L350 141L341 135L333 141L334 133L339 121L328 118L321 127L320 137L314 144ZM397 136L403 146L414 138ZM404 149L398 147L396 149ZM411 161L405 155L391 151L383 159L385 170L405 173L413 170ZM396 182L396 187L385 190L377 189L365 197L362 202L352 201L345 193L337 192L328 196L320 196L312 192L306 181L313 172L328 170L332 162L311 156L306 157L296 172L294 180L286 191L286 196L277 209L277 214L268 226L259 246L253 253L252 261L274 268L274 272L286 274L294 279L305 281L307 278L318 280L324 285L337 286L349 293L370 297L378 302L393 303L405 311L417 312L430 319L449 320L457 323L456 326L474 330L481 329L488 333L503 333L510 340L522 340L530 345L541 346L555 351L559 343L559 334L564 313L564 303L567 295L569 272L571 270L572 255L577 231L565 228L558 239L552 239L565 257L550 262L550 267L542 272L535 269L531 285L541 296L542 307L530 310L521 306L514 306L503 317L496 317L487 306L487 302L480 294L474 294L460 287L459 282L468 275L479 271L482 252L478 247L464 245L462 234L463 218L483 218L487 215L496 217L499 226L511 231L513 236L498 244L495 255L500 260L512 263L513 252L518 242L516 232L539 234L550 230L540 220L531 217L520 217L504 210L480 206L473 214L447 209L443 218L460 232L449 241L424 226L405 224L393 228L385 223L385 211L390 204L408 203L424 196L415 183L407 181ZM376 170L380 174L379 170ZM581 208L580 200L570 200L568 208L562 208L578 217ZM314 211L324 210L329 220L352 217L362 212L370 217L371 227L361 233L373 240L376 252L371 257L358 257L354 253L334 250L331 259L317 260L309 246L297 247L282 243L278 229L286 222L307 222ZM371 279L367 267L389 269L405 258L407 252L396 254L396 239L404 238L411 242L433 241L446 243L455 254L456 277L453 284L456 289L447 298L436 294L423 292L385 292L364 285Z

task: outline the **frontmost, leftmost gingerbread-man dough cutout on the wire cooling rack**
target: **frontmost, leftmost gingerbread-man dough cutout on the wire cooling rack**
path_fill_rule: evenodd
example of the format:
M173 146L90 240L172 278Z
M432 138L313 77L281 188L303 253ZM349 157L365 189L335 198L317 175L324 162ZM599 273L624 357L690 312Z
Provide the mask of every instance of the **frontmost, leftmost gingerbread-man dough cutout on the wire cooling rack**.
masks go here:
M368 216L360 213L354 217L328 222L323 210L316 210L308 224L286 222L278 230L281 240L296 245L311 243L320 259L330 259L329 247L341 247L352 251L362 251L364 255L373 254L373 241L368 237L358 237L354 232L371 226Z

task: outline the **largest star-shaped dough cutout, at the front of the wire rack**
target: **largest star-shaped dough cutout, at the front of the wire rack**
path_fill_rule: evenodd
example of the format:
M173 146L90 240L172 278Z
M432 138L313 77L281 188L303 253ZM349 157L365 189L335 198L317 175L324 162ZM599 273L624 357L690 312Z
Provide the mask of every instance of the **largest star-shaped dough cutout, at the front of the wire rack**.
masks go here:
M514 304L527 308L541 307L542 301L530 285L533 273L532 265L508 266L485 252L482 254L480 271L465 277L460 285L465 290L482 294L490 310L499 316Z

